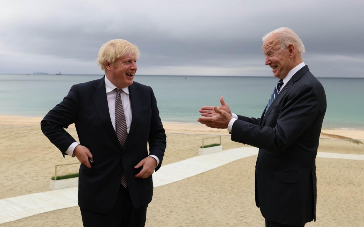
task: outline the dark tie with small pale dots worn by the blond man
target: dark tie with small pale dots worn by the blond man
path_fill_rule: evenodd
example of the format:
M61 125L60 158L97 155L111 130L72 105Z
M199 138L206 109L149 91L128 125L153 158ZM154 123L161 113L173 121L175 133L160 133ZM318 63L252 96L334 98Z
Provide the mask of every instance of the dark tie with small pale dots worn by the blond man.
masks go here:
M115 131L116 136L119 139L120 145L124 147L126 137L128 136L128 131L126 127L126 120L125 120L125 114L124 114L124 108L123 108L123 102L121 101L120 94L122 93L122 89L115 88L116 91L116 99L115 99ZM123 174L121 175L121 181L120 184L123 187L126 187L126 177L125 173L123 171Z

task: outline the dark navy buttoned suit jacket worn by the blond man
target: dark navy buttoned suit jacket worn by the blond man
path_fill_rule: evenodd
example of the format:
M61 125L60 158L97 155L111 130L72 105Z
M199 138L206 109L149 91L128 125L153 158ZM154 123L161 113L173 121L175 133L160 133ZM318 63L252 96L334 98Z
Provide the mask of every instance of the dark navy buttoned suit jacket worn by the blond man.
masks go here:
M134 82L129 86L132 121L124 147L121 147L108 110L104 78L73 85L63 101L41 121L41 129L58 147L63 157L75 142L64 128L75 123L79 142L92 153L94 166L79 169L78 204L85 210L108 212L118 196L122 171L125 172L133 205L148 204L153 195L152 175L135 178L142 169L134 169L149 154L156 155L161 167L166 148L157 101L153 90ZM147 143L149 142L149 154Z

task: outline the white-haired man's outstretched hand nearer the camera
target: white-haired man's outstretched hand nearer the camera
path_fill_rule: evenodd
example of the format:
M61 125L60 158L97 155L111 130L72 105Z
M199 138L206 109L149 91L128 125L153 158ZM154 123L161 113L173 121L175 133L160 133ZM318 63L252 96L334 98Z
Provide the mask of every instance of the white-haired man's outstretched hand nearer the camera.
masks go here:
M229 122L232 118L231 112L229 114L226 111L221 110L221 108L218 108L217 106L214 106L213 110L215 113L212 117L200 117L197 119L197 121L210 128L227 129L227 125L229 125Z

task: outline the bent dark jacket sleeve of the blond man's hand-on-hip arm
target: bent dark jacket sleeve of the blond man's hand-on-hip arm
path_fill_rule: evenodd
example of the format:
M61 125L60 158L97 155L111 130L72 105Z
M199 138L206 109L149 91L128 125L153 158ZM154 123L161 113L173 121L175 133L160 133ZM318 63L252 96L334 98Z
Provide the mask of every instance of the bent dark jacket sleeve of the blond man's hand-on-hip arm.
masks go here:
M63 101L50 110L40 122L42 132L62 152L63 157L67 155L67 148L76 142L64 129L76 121L77 110L77 87L73 85Z

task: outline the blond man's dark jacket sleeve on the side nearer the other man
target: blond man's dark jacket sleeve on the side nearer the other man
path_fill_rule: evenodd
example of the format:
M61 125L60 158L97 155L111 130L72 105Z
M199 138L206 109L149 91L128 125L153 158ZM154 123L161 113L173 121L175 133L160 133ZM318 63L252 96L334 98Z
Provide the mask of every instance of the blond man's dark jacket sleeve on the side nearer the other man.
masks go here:
M155 99L153 90L151 88L150 92L151 92L152 117L151 117L150 131L148 138L149 155L155 155L159 158L159 165L155 168L155 171L157 171L162 165L162 160L167 142L166 142L165 130L163 128L161 118L159 117L157 100Z

